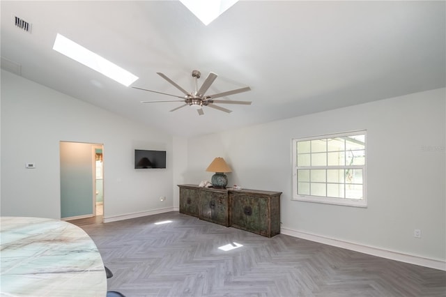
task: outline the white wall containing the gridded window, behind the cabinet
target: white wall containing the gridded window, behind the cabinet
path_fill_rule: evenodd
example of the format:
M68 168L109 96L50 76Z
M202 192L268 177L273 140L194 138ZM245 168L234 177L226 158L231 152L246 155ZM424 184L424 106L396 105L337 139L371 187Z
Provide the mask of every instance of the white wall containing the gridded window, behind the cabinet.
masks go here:
M436 89L188 139L185 183L210 180L220 156L229 185L283 192L282 230L445 261L445 98ZM362 129L368 207L291 201L291 139Z

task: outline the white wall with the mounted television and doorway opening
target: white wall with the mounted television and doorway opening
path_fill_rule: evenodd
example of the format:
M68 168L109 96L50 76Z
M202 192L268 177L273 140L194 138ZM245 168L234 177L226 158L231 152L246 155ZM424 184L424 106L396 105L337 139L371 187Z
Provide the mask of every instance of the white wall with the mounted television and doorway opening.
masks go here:
M170 135L2 70L1 215L61 218L60 141L104 144L105 218L172 209ZM134 148L167 151L167 169L135 170Z

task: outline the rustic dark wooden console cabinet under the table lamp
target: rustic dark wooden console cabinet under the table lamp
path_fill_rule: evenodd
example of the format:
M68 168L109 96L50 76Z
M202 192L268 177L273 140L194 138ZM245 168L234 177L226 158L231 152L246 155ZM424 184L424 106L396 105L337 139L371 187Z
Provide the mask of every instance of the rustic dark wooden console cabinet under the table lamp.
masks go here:
M267 237L280 233L281 192L178 187L180 213Z

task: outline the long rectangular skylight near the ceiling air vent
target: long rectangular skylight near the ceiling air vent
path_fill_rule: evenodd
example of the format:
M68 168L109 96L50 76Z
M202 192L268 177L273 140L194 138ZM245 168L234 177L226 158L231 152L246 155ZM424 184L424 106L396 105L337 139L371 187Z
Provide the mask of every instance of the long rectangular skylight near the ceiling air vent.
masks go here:
M130 86L130 84L139 78L59 33L54 41L53 50L98 71L98 73L102 73L103 75L116 80L116 82L119 82L124 86Z

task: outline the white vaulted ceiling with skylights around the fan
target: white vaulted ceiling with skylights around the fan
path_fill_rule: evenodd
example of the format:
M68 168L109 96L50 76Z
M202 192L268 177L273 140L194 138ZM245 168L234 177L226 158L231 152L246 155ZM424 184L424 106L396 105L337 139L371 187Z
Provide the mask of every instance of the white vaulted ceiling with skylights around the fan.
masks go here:
M445 86L445 1L239 1L204 26L179 1L1 1L1 56L21 75L72 97L192 136ZM14 16L32 24L18 29ZM173 97L125 87L52 50L56 33L129 70L132 86L183 95L192 70L208 90L250 86L203 107L169 112ZM4 61L2 59L2 61ZM7 65L2 63L2 67Z

